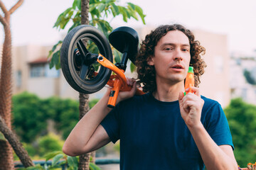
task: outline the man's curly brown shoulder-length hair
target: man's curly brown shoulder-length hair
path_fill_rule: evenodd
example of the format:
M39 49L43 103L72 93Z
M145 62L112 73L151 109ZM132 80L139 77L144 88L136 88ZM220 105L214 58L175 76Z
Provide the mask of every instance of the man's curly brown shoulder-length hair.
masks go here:
M150 56L154 56L154 47L156 47L157 42L159 42L159 40L171 30L180 30L188 37L189 44L191 46L190 65L193 66L194 70L195 86L198 87L198 84L201 82L199 77L204 73L204 68L206 67L206 62L201 58L201 55L205 54L206 49L200 45L198 40L195 40L195 36L191 30L188 30L179 24L164 25L159 26L146 35L145 40L142 41L136 58L135 63L137 66L138 79L139 82L143 84L144 92L156 91L156 72L154 65L151 66L148 64L148 60Z

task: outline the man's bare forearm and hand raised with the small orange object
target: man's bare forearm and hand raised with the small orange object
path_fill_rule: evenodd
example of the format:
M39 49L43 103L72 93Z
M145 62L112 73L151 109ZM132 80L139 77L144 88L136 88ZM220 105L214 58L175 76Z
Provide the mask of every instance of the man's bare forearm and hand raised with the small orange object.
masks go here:
M201 154L204 164L210 169L238 169L232 147L230 145L218 146L210 137L201 123L201 111L203 99L198 88L193 87L195 94L181 92L178 97L180 104L181 117L185 121L188 129L193 136L196 146Z

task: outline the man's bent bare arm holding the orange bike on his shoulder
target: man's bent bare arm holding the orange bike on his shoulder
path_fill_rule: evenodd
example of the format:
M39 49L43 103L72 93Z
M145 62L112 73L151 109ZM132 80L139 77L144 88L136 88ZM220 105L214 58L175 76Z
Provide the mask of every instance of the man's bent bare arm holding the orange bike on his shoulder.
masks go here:
M134 81L127 80L127 84L132 85ZM131 91L122 91L119 93L117 103L126 98L134 96L136 83L133 84ZM102 120L112 110L107 107L110 91L107 91L96 105L90 109L75 125L63 145L63 152L70 156L77 156L92 152L95 149L103 147L110 142L110 137L105 129L100 125Z

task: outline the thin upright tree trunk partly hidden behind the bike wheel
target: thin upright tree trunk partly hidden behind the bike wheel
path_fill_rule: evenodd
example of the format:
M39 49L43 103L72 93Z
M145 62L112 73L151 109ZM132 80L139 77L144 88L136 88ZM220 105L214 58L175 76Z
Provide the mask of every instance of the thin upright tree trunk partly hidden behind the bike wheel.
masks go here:
M89 2L90 0L81 1L81 24L89 24ZM88 94L79 94L79 112L80 119L89 111L89 95ZM82 154L79 157L79 170L89 170L90 164L90 153Z

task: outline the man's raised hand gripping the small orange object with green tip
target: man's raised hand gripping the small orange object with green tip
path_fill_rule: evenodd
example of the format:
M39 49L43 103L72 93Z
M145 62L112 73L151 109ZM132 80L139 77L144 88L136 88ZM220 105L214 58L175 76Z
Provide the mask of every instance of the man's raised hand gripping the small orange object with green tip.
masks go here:
M188 93L186 89L186 96L183 92L178 94L178 103L181 110L181 117L185 121L188 128L193 128L201 125L201 112L203 108L203 99L201 98L199 89L191 87L192 93Z

